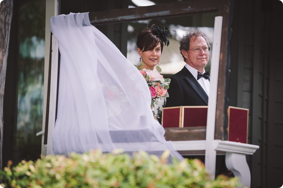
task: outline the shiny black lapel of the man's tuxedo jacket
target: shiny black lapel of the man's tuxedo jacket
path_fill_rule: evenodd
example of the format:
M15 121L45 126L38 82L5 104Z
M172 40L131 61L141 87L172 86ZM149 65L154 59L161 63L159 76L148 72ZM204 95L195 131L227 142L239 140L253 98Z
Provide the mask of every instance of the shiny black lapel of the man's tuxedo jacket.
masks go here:
M185 80L187 81L187 83L198 93L202 100L208 105L208 96L203 90L202 86L198 83L198 81L194 78L192 73L189 72L186 67L184 67L182 70L185 73Z

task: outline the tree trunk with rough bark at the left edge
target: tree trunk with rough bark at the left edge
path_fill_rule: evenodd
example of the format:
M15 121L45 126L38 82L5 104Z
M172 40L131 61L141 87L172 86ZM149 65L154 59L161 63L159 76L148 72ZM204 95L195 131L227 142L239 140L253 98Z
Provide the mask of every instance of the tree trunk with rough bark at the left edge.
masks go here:
M3 101L10 39L10 27L13 13L13 0L4 0L0 4L0 169L2 169L3 144Z

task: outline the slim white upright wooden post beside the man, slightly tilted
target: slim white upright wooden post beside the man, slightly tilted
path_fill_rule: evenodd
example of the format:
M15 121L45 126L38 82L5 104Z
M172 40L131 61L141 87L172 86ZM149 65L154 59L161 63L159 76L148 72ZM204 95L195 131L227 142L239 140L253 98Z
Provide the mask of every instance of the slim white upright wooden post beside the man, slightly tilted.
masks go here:
M210 68L210 95L208 99L207 123L206 123L206 150L205 150L205 167L215 177L216 150L214 146L214 130L216 115L216 99L218 84L218 69L220 59L220 44L222 33L222 16L215 17L214 37L212 46L212 59Z

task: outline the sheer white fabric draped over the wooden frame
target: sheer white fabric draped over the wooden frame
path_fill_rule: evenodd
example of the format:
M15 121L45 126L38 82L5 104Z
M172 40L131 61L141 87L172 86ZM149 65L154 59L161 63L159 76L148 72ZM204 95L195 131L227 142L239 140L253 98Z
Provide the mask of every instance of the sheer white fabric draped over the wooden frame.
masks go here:
M181 160L153 118L143 76L88 13L55 16L50 24L61 54L54 153L170 149Z

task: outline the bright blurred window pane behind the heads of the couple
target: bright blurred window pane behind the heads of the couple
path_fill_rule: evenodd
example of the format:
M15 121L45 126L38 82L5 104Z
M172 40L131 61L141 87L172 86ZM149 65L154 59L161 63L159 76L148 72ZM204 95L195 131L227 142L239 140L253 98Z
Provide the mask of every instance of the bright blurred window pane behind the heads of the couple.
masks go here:
M168 47L164 46L159 66L162 69L161 74L165 76L173 75L185 66L185 62L179 50L179 40L186 32L198 27L208 36L210 47L212 47L215 16L217 16L216 12L129 22L127 59L133 64L138 65L139 63L139 55L137 53L136 46L137 33L139 31L141 31L144 27L150 27L152 24L156 24L159 27L167 27L169 31L171 31L171 37L169 37L170 44ZM211 52L212 51L210 50L210 59ZM210 60L206 65L205 70L210 70Z

